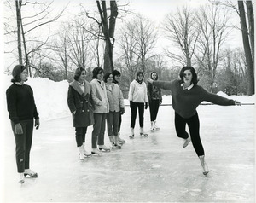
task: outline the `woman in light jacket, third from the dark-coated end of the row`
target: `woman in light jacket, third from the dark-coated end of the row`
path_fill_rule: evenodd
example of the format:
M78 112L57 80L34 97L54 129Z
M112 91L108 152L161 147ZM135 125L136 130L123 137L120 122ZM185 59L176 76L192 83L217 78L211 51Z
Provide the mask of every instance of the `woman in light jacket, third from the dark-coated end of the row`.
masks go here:
M113 83L113 74L104 75L106 90L109 103L109 112L107 113L108 137L113 146L121 148L118 136L119 118L121 113L125 113L125 104L123 93L118 84Z

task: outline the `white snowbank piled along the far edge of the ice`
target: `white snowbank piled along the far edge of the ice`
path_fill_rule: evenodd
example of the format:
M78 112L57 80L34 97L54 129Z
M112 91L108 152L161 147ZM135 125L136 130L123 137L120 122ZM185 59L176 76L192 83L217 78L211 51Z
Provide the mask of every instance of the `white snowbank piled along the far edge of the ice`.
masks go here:
M11 85L11 78L9 75L4 75L3 90L7 90L9 85ZM59 119L69 115L70 112L67 107L67 81L54 82L48 78L28 78L26 84L32 86L40 119ZM242 104L255 102L254 96L227 96L224 92L218 92L218 95L237 100ZM3 103L5 109L7 109L6 102ZM162 104L172 104L172 96L163 96ZM125 100L125 105L129 105L128 100ZM7 118L7 111L5 111L5 114L5 118Z

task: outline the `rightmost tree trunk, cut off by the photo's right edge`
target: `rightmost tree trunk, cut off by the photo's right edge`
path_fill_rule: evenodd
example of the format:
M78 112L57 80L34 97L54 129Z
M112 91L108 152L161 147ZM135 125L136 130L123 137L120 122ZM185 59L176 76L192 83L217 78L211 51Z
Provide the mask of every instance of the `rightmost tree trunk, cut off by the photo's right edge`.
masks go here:
M254 56L254 15L253 15L253 4L252 1L246 1L247 5L247 18L249 24L249 38L251 43L252 56ZM254 57L253 57L254 67Z

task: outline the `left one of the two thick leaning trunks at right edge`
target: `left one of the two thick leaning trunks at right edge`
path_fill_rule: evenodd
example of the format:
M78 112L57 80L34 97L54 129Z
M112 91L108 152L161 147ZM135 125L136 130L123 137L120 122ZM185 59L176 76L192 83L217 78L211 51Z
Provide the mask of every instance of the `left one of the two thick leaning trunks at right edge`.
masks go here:
M252 58L252 52L251 52L249 38L248 38L247 21L246 21L243 1L238 1L238 9L240 13L243 49L246 55L246 62L247 62L247 79L248 79L247 95L252 96L254 94L253 58Z

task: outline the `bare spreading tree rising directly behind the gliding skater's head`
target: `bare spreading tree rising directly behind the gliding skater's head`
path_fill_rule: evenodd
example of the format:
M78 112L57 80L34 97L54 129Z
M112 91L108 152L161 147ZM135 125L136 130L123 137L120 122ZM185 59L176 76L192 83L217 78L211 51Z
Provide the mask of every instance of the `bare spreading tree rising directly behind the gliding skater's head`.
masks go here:
M182 51L182 55L177 55L173 51L166 50L166 55L182 66L191 66L195 46L200 34L194 11L188 7L183 7L178 9L177 13L167 14L164 30L166 31L166 37Z

